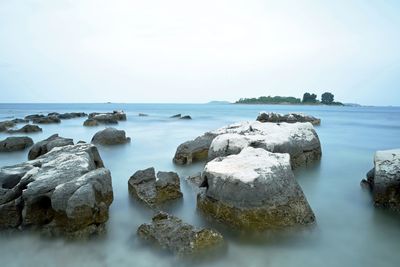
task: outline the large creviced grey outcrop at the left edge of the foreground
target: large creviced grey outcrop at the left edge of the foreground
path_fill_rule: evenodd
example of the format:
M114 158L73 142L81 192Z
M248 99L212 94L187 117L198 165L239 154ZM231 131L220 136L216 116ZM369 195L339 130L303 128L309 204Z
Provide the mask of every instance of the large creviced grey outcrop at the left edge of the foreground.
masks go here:
M95 146L69 145L0 169L0 227L87 237L104 230L110 171Z

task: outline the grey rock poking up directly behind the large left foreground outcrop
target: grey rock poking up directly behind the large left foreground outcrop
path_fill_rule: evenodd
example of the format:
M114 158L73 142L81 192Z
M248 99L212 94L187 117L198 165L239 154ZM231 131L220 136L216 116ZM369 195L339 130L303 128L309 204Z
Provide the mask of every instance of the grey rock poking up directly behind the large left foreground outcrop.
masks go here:
M37 142L30 150L28 153L28 159L36 159L37 157L40 157L41 155L46 154L50 150L52 150L55 147L62 147L62 146L68 146L68 145L73 145L74 141L70 138L64 138L59 136L58 134L53 134L49 138L42 140L40 142Z

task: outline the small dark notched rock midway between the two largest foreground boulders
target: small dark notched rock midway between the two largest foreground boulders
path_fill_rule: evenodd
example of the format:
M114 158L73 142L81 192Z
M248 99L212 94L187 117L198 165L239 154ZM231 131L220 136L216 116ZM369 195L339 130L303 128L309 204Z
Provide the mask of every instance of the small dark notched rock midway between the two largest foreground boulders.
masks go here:
M150 207L182 197L178 174L159 171L156 177L154 168L135 172L128 181L128 190Z

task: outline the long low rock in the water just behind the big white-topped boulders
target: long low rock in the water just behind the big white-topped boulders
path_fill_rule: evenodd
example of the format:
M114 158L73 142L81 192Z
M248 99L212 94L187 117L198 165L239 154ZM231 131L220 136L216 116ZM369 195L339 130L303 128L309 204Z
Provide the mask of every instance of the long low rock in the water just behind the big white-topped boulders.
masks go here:
M310 122L313 125L320 125L321 119L315 118L310 115L305 115L302 113L289 113L289 114L279 114L274 112L260 112L257 117L257 121L260 122L287 122L287 123L295 123L295 122Z

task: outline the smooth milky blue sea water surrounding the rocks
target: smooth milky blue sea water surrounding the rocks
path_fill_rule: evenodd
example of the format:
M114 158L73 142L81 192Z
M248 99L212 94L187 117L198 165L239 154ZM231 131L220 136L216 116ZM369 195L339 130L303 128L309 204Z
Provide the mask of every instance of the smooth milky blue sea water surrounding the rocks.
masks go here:
M90 241L46 239L35 233L0 232L0 266L399 266L400 215L373 207L360 180L373 167L376 150L400 147L400 108L281 105L202 104L0 104L0 120L38 112L94 112L124 110L128 120L119 129L132 142L99 147L111 170L114 202L107 234ZM204 163L176 166L176 147L208 130L255 120L259 111L304 112L322 119L316 127L323 156L319 164L295 171L296 179L314 210L314 226L275 230L263 234L239 233L204 219L196 211L196 192L184 177L202 170ZM138 113L148 117L139 117ZM193 120L170 119L189 114ZM90 141L104 128L83 127L84 119L41 125L29 134L35 142L54 133ZM22 125L19 125L22 126ZM8 136L0 133L0 139ZM28 150L1 153L0 166L27 159ZM137 227L153 212L128 195L129 177L139 169L176 171L184 198L165 210L197 226L214 227L227 240L219 255L179 259L156 247L143 245Z

